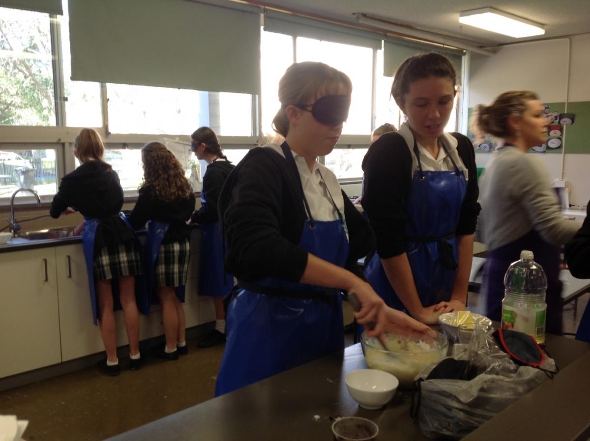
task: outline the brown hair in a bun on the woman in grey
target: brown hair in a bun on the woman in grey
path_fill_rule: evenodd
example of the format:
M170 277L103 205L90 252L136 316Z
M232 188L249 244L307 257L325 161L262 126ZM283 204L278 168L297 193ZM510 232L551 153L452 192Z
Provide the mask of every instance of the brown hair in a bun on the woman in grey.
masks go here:
M491 106L477 106L476 129L479 134L490 134L506 138L512 134L508 117L522 116L530 100L538 100L536 93L530 90L510 90L496 98ZM476 130L476 131L477 131Z

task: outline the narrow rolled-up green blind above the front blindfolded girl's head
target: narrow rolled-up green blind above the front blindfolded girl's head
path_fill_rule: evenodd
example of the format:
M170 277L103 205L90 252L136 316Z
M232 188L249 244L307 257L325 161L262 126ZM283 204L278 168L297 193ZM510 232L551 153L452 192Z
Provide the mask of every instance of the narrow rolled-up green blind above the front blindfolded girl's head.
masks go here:
M264 30L372 49L381 49L384 38L383 34L377 32L363 31L362 29L271 11L264 15Z

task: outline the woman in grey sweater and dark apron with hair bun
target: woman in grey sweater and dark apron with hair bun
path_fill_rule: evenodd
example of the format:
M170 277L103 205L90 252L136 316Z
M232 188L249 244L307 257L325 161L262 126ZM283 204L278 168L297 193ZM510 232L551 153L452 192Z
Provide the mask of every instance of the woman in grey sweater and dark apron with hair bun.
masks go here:
M545 143L547 126L543 105L531 91L507 91L490 106L478 107L478 130L503 140L481 179L483 240L490 253L483 293L485 314L500 321L504 274L521 251L532 251L547 276L546 331L560 334L560 246L573 238L581 223L563 218L547 170L526 154Z

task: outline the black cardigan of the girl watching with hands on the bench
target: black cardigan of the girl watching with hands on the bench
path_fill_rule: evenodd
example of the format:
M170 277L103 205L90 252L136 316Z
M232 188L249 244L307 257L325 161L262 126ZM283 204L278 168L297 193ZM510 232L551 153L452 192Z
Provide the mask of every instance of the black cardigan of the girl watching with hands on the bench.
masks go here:
M468 170L467 193L463 199L455 234L470 235L476 231L480 205L477 202L477 166L471 141L460 133L457 152ZM406 202L412 183L412 153L399 133L386 133L371 146L363 159L364 189L361 204L377 238L382 259L405 252Z

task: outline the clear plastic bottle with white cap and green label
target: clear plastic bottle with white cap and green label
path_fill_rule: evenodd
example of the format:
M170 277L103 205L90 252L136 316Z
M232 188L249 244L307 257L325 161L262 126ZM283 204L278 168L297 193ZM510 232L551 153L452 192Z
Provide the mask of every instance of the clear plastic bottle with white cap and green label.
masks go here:
M520 252L504 275L502 328L532 335L540 344L545 342L547 277L533 258L532 251Z

